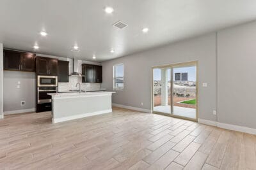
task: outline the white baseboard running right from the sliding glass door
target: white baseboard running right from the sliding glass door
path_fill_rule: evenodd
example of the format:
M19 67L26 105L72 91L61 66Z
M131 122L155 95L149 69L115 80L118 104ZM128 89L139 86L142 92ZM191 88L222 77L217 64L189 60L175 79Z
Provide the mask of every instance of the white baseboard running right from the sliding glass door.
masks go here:
M224 124L220 122L214 122L211 120L205 120L198 118L198 123L200 124L205 124L205 125L212 125L216 127L220 127L223 129L228 129L232 131L239 131L239 132L244 132L248 134L256 134L256 129L250 128L250 127L244 127L244 126L239 126L239 125L232 125L232 124Z

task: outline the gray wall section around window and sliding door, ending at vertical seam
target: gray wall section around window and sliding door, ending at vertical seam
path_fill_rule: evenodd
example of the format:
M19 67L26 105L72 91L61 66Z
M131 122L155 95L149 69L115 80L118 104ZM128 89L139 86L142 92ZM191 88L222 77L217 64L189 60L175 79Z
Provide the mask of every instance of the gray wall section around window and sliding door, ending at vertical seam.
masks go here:
M113 94L113 103L151 109L152 66L198 60L199 117L216 121L216 34L172 43L102 63L102 87L113 90L113 65L124 63L124 91ZM208 87L202 87L207 82ZM143 106L141 106L143 103Z

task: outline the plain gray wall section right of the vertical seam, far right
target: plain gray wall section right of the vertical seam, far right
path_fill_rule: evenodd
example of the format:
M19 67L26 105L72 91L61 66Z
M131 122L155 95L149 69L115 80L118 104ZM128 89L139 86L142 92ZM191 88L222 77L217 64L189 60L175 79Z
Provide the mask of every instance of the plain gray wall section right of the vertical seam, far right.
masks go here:
M218 32L218 122L256 128L256 22Z

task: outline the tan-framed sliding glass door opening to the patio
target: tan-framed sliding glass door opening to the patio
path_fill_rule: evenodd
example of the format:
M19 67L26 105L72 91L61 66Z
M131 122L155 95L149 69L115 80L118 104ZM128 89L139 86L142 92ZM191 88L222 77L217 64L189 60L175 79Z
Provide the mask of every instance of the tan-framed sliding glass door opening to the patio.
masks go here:
M173 117L197 120L197 62L152 68L152 109Z

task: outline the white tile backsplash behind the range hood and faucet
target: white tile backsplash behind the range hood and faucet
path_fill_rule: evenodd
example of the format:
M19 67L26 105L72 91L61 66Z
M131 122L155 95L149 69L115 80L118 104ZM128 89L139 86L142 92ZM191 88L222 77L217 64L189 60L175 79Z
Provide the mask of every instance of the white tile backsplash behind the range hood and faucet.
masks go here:
M101 83L82 83L81 77L69 77L68 83L59 83L59 92L66 92L68 90L77 90L79 86L76 87L76 83L81 83L81 89L86 91L100 90Z

